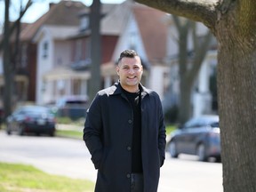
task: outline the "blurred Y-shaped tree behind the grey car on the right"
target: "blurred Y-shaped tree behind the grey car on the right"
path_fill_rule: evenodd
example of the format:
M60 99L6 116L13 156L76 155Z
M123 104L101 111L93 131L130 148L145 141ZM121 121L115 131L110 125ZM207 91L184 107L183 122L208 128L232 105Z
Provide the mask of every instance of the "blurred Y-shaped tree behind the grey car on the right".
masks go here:
M179 122L180 124L188 121L191 116L190 98L196 81L198 72L204 61L212 40L212 33L209 30L202 39L202 44L198 44L196 36L196 22L172 15L175 27L178 30L179 38L179 75L180 75L180 104L179 104ZM188 57L188 35L192 32L193 40L193 58Z

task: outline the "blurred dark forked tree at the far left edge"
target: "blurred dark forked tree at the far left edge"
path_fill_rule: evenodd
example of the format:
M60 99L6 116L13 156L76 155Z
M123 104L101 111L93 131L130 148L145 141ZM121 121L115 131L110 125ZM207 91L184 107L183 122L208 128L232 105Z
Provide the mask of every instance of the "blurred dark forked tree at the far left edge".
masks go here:
M11 44L11 36L13 32L20 31L20 20L27 12L28 7L32 4L31 0L28 0L28 3L24 8L20 8L20 15L17 20L10 25L9 20L9 7L10 0L4 0L5 9L4 9L4 36L0 42L0 51L4 52L4 116L9 116L12 113L12 94L13 94L13 86L14 86L14 66L11 63L11 57L13 56L10 49ZM19 34L17 34L17 38L19 38ZM19 40L16 38L16 42ZM17 45L17 44L16 44ZM17 49L16 49L17 50ZM17 53L17 52L16 52Z

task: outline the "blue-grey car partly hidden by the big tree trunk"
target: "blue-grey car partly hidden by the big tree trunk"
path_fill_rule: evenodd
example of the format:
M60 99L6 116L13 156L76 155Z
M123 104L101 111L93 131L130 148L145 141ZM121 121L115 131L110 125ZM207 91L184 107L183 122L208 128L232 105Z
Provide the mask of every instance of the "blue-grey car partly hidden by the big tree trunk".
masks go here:
M171 133L167 151L174 158L188 154L198 156L199 161L215 157L220 162L219 116L198 116L188 120Z

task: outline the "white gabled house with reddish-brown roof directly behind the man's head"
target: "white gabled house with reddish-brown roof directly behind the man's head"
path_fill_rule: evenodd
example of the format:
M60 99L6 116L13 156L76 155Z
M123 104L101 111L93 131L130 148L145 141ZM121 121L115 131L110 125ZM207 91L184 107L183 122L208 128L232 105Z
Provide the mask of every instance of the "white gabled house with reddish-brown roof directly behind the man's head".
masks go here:
M163 99L168 87L166 14L143 4L131 4L131 13L120 36L114 58L124 49L131 48L140 54L146 69L144 84L155 90Z

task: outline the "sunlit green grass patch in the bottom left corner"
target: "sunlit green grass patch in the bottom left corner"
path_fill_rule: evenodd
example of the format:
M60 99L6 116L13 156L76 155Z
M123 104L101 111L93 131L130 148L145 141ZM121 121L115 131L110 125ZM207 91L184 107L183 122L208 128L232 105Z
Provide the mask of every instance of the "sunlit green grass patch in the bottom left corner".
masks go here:
M41 172L24 164L0 163L1 192L92 192L94 183Z

